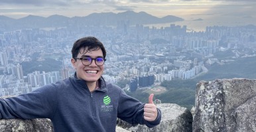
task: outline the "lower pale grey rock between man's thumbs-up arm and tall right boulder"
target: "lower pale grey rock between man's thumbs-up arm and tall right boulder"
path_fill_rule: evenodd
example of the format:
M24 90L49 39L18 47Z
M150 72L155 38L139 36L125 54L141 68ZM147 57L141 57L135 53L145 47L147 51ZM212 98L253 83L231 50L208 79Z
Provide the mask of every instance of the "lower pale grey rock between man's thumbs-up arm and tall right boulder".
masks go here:
M188 109L182 108L177 104L157 104L157 108L162 112L162 120L156 127L149 128L146 125L131 126L120 119L117 121L117 125L132 132L192 131L192 114Z

